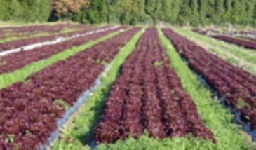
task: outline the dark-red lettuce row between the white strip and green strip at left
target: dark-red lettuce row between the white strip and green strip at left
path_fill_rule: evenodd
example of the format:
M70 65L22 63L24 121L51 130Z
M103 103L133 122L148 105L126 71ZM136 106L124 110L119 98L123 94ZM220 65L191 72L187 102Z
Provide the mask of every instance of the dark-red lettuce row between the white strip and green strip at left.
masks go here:
M99 29L105 29L105 27L102 27ZM33 50L20 51L17 53L12 53L11 55L5 55L3 57L0 57L1 58L0 64L2 64L0 68L0 74L4 74L6 72L11 72L16 69L20 69L32 62L47 59L51 55L60 53L63 50L72 48L73 46L81 46L84 43L94 41L111 32L116 32L119 29L126 29L126 27L117 27L115 29L109 29L104 32L97 32L94 34L90 34L88 36L82 36L82 37L77 37L68 41L63 41L62 43L40 46L38 48L34 48Z

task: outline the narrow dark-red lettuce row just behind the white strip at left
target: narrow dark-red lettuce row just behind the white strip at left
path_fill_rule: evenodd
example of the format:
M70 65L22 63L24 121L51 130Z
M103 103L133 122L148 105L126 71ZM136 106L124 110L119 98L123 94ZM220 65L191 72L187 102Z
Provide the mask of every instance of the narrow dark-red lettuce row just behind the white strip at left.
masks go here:
M107 26L111 27L111 26ZM97 29L97 28L96 28ZM5 50L11 50L15 48L21 48L22 46L29 46L34 43L41 43L41 42L46 42L46 41L53 41L55 39L58 39L60 37L65 38L65 37L72 37L75 35L80 35L80 34L85 34L86 32L91 32L96 29L83 29L75 32L69 32L69 33L63 33L63 34L53 34L50 36L40 36L40 37L32 37L29 39L20 39L20 40L15 40L15 41L8 41L5 43L0 43L0 52L5 51Z

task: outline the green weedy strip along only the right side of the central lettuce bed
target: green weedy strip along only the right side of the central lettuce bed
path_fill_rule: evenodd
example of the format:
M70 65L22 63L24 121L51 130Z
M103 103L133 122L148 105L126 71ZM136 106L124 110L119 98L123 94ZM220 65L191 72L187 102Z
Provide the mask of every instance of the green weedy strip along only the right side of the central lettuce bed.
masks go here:
M161 32L159 34L163 46L170 57L170 64L182 81L182 86L196 103L198 114L205 125L214 133L217 144L208 141L197 142L196 147L187 149L252 149L252 142L241 127L234 123L229 109L220 104L206 87L189 69L186 62L173 48L170 41Z

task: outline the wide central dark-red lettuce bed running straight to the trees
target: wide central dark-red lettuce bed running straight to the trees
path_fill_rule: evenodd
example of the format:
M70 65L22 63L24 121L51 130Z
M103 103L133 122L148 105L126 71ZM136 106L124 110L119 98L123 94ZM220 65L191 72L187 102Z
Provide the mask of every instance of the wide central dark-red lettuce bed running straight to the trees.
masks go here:
M104 112L95 129L95 142L114 143L138 138L144 130L150 137L195 137L211 139L197 113L196 104L184 91L170 67L156 29L142 34L136 50L121 67L121 75L110 88Z

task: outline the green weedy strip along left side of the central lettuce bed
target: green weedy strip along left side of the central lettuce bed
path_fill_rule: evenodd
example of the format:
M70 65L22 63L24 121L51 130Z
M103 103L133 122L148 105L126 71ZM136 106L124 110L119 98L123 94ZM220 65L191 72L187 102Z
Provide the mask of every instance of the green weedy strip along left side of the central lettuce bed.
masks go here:
M103 111L103 105L109 94L109 88L112 86L117 76L121 64L126 61L130 53L135 50L135 44L140 39L142 32L137 32L126 46L121 48L120 52L112 63L107 73L101 76L102 85L97 88L93 95L90 96L85 104L79 108L78 114L72 118L72 123L63 128L62 140L54 142L53 150L62 149L90 149L90 142L93 140L93 130L95 125L100 121L100 115ZM67 140L68 139L68 140Z

